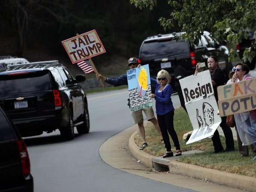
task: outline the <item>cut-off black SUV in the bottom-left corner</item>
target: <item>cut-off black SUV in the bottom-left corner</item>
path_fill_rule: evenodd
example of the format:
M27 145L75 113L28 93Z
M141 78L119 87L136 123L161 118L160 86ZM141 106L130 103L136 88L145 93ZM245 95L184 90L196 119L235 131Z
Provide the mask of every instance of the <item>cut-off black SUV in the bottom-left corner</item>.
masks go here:
M0 192L33 192L26 145L2 107L0 124Z

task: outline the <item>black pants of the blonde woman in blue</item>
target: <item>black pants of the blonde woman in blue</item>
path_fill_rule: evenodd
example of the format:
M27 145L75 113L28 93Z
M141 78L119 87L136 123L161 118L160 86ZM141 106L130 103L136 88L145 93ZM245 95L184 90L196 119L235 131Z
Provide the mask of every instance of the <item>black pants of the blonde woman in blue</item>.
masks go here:
M170 111L169 113L166 113L164 115L157 115L157 121L158 121L160 130L162 132L163 142L165 144L166 151L172 150L168 132L172 137L176 150L180 150L180 143L178 140L178 136L173 126L173 116L174 116L174 111Z

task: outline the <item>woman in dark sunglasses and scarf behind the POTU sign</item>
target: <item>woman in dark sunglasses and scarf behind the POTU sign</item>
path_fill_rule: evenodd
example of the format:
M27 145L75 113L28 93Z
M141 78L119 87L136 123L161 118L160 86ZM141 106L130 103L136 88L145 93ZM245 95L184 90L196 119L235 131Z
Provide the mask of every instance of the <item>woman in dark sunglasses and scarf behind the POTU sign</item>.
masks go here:
M231 83L253 79L250 75L247 64L237 63L233 69ZM230 81L227 82L229 84ZM236 128L243 145L256 144L256 110L237 113L234 115ZM248 150L248 149L247 149ZM256 160L256 157L254 157Z

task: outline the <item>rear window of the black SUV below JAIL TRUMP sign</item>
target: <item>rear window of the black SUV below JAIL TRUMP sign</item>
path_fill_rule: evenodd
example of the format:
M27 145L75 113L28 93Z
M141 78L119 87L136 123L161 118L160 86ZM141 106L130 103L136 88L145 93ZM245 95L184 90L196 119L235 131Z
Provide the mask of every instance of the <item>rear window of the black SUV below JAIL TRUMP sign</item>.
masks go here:
M51 89L52 84L48 72L0 76L0 95Z

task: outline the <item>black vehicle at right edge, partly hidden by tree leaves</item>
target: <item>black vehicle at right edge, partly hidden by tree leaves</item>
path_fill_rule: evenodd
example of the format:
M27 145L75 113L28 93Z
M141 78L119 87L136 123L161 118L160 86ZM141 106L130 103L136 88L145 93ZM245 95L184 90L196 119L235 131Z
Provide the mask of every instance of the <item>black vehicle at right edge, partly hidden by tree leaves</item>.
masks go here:
M236 52L238 53L240 59L244 57L244 50L246 48L252 47L252 42L255 41L255 39L253 38L253 35L254 33L249 31L247 35L247 39L243 39L241 43L236 44ZM255 49L253 50L255 51ZM245 63L248 65L250 70L253 70L256 64L256 56L253 58L251 62L246 61Z

